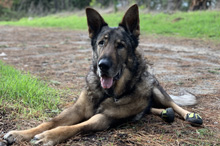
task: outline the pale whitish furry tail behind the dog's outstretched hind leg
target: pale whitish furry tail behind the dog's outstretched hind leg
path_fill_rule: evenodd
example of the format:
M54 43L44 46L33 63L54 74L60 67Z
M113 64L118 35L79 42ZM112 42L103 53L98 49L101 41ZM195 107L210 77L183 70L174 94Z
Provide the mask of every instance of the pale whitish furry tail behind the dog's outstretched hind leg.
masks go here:
M197 104L196 96L191 93L185 92L184 95L181 96L174 96L170 95L173 101L180 105L180 106L187 106L187 105L195 105Z

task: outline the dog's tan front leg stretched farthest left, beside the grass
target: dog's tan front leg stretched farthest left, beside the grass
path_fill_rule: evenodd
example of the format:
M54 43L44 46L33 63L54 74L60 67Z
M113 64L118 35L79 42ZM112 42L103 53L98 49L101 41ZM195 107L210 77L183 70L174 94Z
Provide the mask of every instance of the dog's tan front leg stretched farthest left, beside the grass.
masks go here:
M13 143L16 141L31 140L35 135L42 133L46 130L53 129L58 126L66 126L76 124L82 121L85 118L89 118L92 116L91 113L91 105L89 105L88 98L87 98L87 91L83 91L77 100L77 102L70 108L61 112L60 115L56 116L49 122L45 122L40 124L35 128L31 128L28 130L15 130L8 132L4 139L8 141L8 143Z

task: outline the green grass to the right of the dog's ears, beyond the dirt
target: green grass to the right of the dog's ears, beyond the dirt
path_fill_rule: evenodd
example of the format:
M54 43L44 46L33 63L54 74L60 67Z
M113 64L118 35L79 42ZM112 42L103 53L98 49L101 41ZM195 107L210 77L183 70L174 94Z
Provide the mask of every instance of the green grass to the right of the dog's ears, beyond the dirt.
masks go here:
M217 11L178 12L141 15L141 29L162 35L220 39L220 13Z

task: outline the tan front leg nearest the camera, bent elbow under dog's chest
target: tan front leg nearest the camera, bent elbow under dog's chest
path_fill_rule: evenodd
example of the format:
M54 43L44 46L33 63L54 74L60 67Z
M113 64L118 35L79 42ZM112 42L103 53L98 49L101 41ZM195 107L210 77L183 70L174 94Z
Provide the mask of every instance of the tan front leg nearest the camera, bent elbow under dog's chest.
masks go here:
M38 134L34 137L33 143L40 145L55 145L81 132L107 129L111 122L111 119L106 115L96 114L85 122L72 126L59 126Z

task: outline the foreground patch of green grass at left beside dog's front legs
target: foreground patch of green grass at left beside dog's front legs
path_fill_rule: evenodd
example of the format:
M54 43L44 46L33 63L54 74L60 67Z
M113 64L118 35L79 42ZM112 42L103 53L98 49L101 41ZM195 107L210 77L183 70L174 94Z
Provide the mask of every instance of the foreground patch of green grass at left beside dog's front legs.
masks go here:
M24 115L58 112L59 93L29 73L0 61L0 105Z

